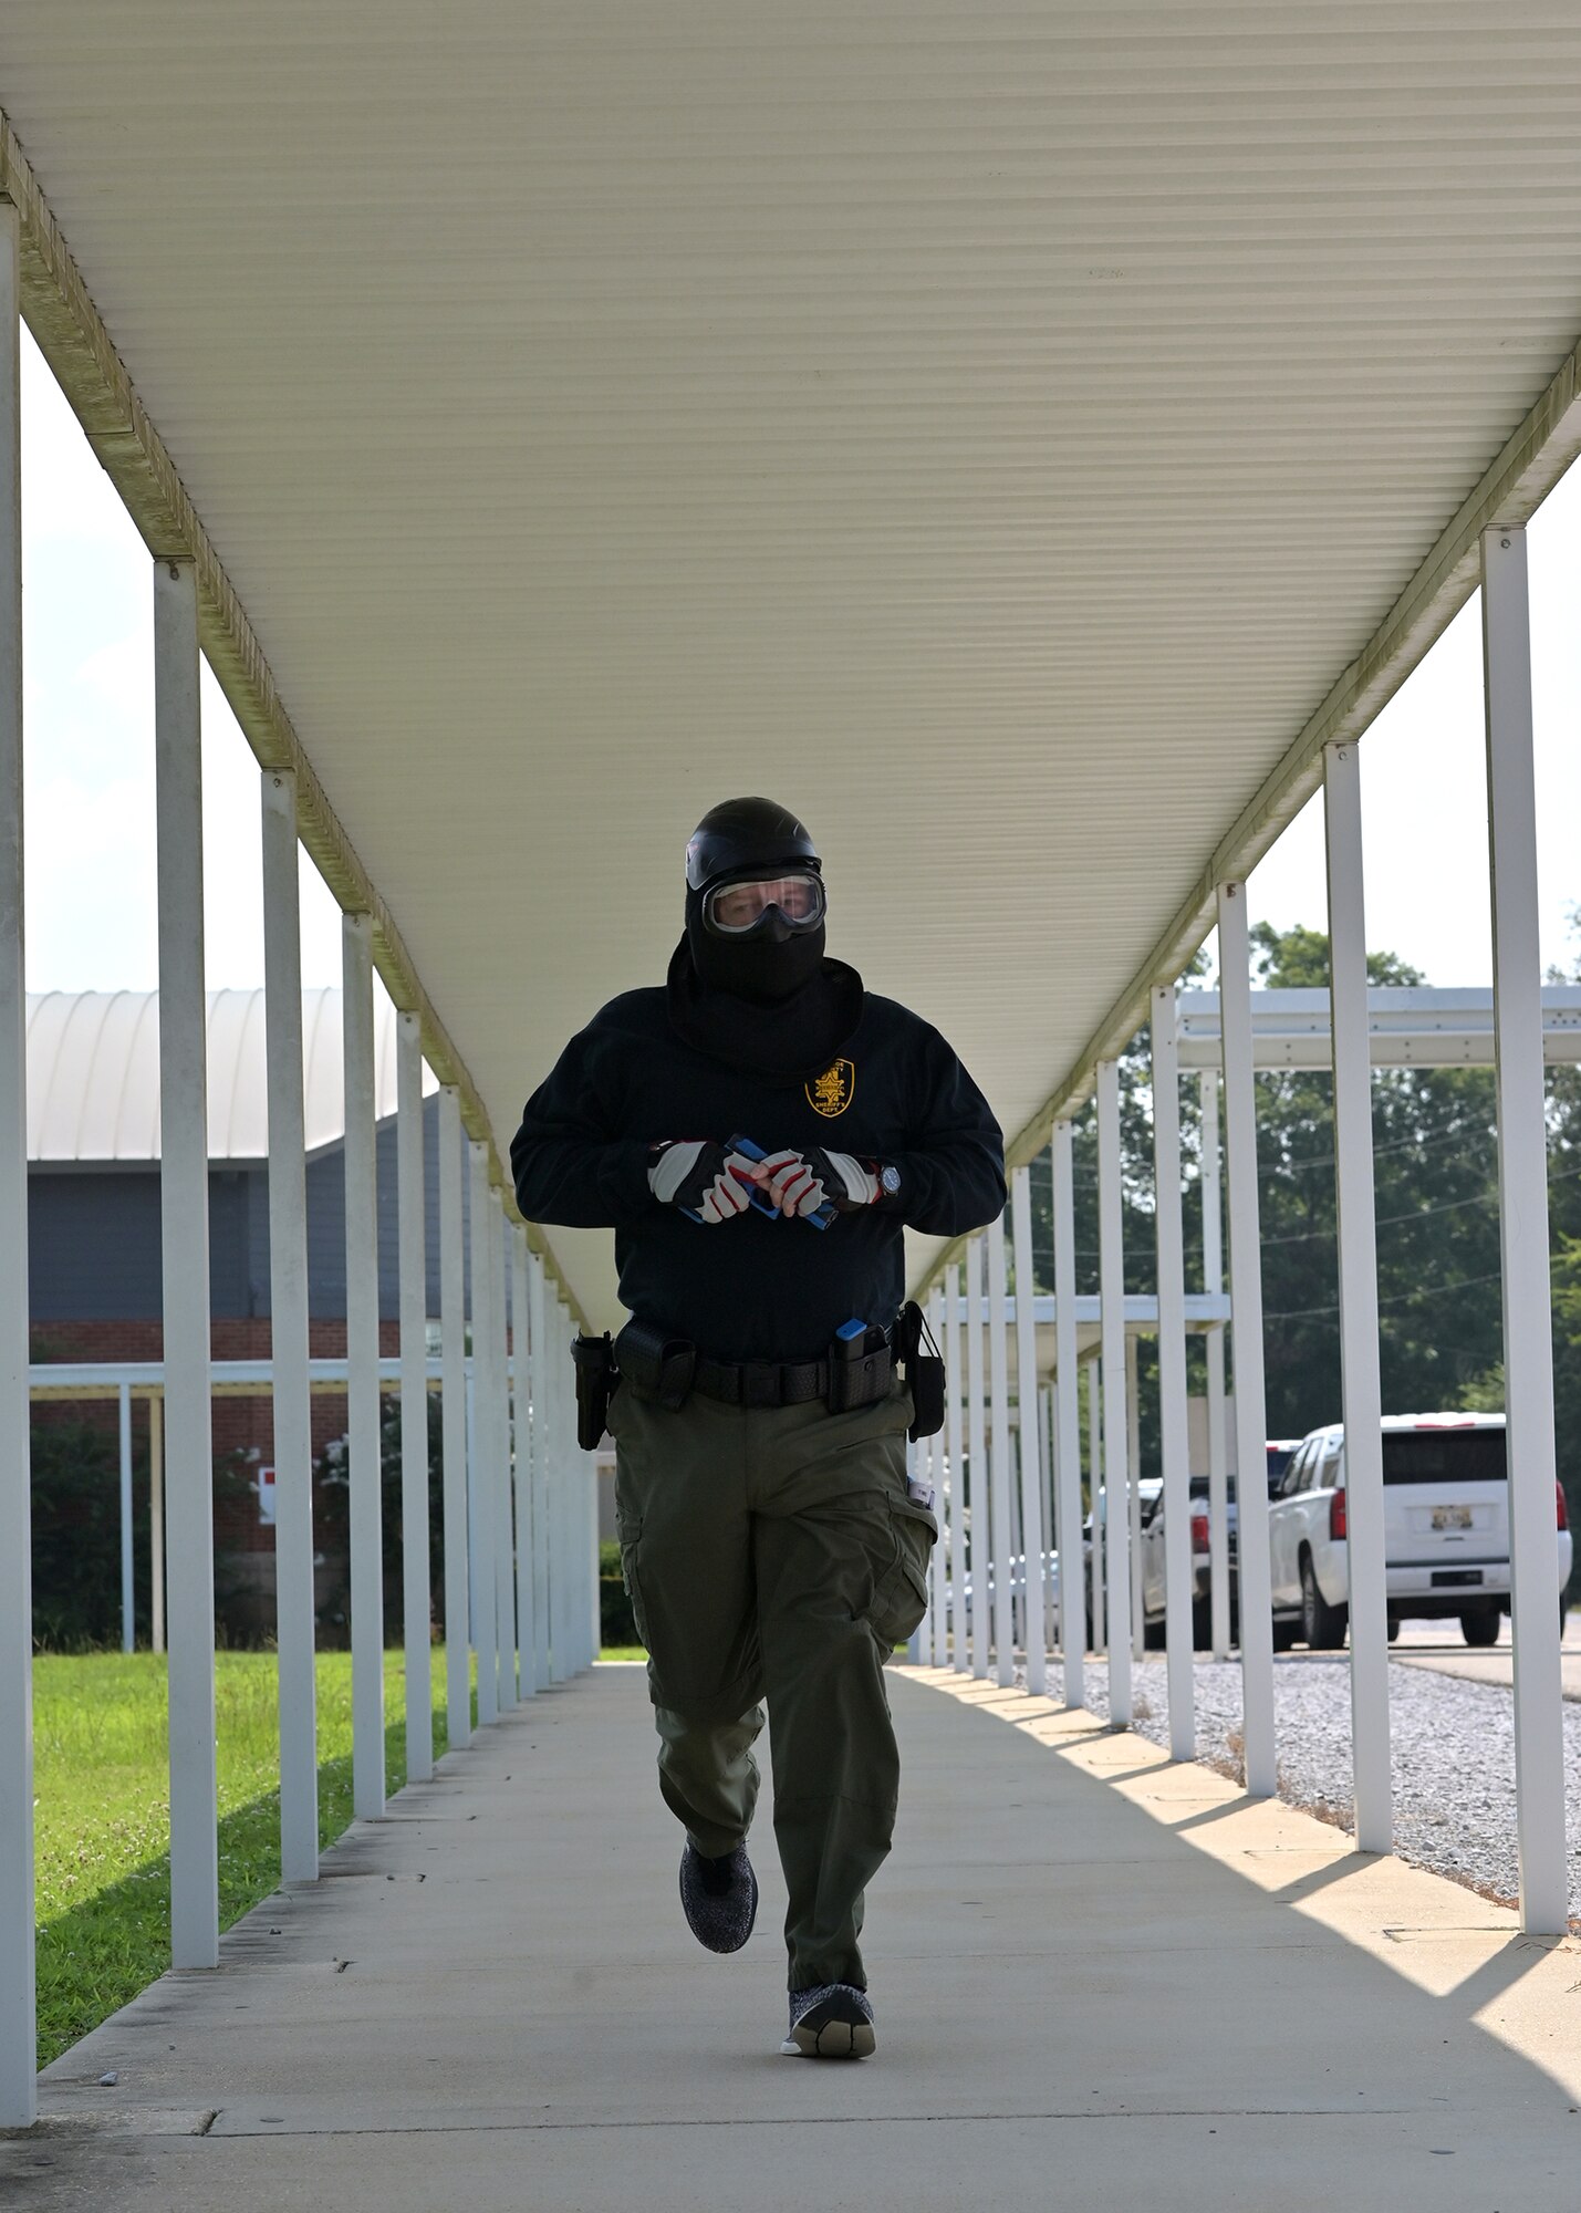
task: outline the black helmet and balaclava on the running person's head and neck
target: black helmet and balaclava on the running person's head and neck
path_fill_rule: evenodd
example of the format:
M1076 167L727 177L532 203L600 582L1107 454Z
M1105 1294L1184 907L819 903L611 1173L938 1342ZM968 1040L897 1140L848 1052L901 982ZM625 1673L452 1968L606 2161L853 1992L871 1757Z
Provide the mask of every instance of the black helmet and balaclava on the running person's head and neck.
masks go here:
M861 1018L861 976L824 954L824 921L771 912L751 936L709 929L724 883L777 870L822 876L813 839L771 799L726 799L686 845L686 936L669 965L671 1022L689 1045L768 1080L802 1082L837 1058Z

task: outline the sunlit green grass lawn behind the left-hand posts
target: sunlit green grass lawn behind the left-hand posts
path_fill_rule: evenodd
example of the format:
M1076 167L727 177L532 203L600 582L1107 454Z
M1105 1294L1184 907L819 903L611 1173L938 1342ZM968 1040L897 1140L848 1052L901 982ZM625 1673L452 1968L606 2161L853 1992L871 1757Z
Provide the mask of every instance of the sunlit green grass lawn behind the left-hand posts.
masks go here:
M352 1819L352 1655L319 1653L319 1843ZM405 1781L401 1653L385 1653L388 1788ZM445 1750L445 1653L434 1651L434 1753ZM476 1693L474 1693L476 1713ZM164 1658L33 1660L38 2065L170 1965L170 1801ZM219 1925L279 1883L272 1653L217 1653Z

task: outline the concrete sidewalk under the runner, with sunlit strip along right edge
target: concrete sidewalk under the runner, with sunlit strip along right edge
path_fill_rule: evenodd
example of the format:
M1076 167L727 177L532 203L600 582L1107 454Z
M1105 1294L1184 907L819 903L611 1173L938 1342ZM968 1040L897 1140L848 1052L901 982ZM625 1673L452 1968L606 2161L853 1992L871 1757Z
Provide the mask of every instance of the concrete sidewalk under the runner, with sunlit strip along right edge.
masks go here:
M895 1708L877 2058L777 2056L766 1821L753 1943L691 1941L642 1675L598 1669L51 2067L0 2202L1572 2213L1572 1939L1043 1700Z

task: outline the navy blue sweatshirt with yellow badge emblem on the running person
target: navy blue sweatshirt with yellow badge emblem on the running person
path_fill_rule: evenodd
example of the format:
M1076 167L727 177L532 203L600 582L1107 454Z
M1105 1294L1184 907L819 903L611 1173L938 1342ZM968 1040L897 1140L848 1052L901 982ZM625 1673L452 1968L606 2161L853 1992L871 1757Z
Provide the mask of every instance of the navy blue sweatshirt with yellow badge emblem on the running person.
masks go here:
M826 1230L755 1208L704 1226L649 1191L660 1137L822 1144L895 1162L895 1199ZM1005 1146L946 1040L892 998L864 998L841 1058L808 1082L726 1067L675 1033L662 989L627 991L571 1038L512 1144L529 1222L613 1228L620 1299L722 1361L808 1361L841 1321L892 1321L901 1230L954 1237L1005 1204Z

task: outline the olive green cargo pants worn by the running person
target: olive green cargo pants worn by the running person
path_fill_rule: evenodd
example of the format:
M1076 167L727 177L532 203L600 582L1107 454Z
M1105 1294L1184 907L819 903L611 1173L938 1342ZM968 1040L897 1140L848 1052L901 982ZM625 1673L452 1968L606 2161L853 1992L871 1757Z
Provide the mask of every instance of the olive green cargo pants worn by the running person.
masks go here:
M660 1790L700 1852L746 1837L768 1702L790 1989L866 1989L864 1890L895 1830L884 1662L928 1604L932 1514L906 1494L910 1394L680 1412L622 1383L620 1558L649 1649Z

